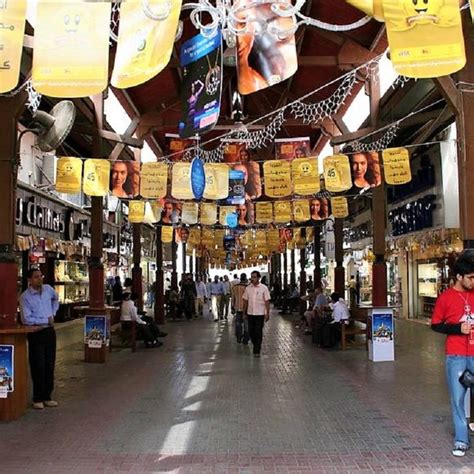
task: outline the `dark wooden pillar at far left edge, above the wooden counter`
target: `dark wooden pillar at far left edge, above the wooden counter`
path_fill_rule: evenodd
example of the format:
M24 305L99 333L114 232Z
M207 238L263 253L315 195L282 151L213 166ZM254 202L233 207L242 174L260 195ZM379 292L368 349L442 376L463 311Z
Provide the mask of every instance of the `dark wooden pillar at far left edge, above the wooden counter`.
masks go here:
M17 126L27 97L24 91L14 97L0 97L0 328L17 326L18 266L13 253L16 240Z

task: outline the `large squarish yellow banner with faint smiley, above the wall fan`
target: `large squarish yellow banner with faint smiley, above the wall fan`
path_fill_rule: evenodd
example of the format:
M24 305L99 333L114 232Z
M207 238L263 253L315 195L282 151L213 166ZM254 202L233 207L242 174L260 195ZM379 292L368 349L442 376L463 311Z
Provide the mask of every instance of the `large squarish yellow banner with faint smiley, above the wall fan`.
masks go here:
M50 97L87 97L106 89L110 2L38 0L32 81Z

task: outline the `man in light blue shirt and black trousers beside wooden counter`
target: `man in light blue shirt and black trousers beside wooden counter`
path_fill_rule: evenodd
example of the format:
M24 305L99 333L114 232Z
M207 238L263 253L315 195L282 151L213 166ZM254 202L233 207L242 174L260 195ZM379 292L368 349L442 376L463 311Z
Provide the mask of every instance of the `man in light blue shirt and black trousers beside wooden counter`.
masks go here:
M20 299L21 318L25 326L39 327L28 334L28 358L33 380L33 408L42 410L56 407L51 399L54 388L54 364L56 361L56 332L54 316L59 308L58 294L49 285L43 285L40 270L27 272L28 289Z

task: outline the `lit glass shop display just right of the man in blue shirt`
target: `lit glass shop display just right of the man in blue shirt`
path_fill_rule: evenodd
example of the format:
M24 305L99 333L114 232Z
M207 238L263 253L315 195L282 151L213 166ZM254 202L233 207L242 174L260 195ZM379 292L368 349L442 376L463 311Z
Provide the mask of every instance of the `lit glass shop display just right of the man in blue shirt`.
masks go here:
M87 264L57 260L54 262L54 288L60 304L89 300L89 274Z

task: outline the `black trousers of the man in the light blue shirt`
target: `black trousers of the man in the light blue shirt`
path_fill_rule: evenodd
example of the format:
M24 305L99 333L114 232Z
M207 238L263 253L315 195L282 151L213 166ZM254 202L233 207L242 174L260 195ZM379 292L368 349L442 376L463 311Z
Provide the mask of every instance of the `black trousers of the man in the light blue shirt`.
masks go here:
M56 331L49 327L28 334L28 358L33 380L33 401L51 400L56 362Z

